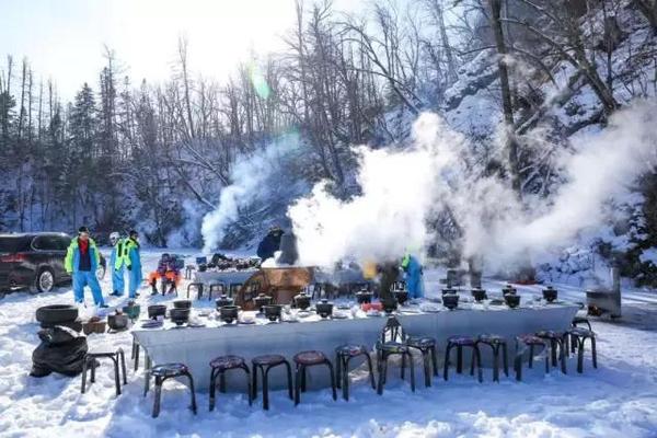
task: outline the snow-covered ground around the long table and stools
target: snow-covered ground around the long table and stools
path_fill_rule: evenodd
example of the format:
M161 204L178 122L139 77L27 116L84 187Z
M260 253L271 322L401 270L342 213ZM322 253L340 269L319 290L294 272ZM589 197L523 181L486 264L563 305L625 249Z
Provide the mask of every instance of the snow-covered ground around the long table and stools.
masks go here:
M145 254L145 273L158 253ZM427 289L438 291L440 274L429 270ZM104 290L110 291L108 278ZM486 286L498 289L495 281ZM580 290L556 285L561 297L581 301ZM522 295L540 287L521 287ZM126 299L111 299L119 306ZM145 289L142 306L151 299ZM430 389L412 393L407 383L390 379L383 396L365 381L353 387L348 403L333 402L330 391L309 392L295 408L287 394L274 393L272 408L249 407L241 394L219 394L215 412L207 410L207 393L198 394L199 411L187 410L184 387L168 387L160 417L150 417L152 391L142 397L142 370L128 364L124 394L114 395L112 368L99 369L96 383L80 394L80 378L28 377L32 350L38 344L36 308L72 302L70 288L47 295L16 292L0 301L0 436L365 436L365 437L657 437L657 291L624 295L622 322L593 322L599 335L599 369L590 359L585 373L540 367L521 383L504 378L493 383L489 372L479 384L469 376L449 382L435 380ZM91 335L90 346L103 343L130 348L128 333ZM198 382L204 387L206 382Z

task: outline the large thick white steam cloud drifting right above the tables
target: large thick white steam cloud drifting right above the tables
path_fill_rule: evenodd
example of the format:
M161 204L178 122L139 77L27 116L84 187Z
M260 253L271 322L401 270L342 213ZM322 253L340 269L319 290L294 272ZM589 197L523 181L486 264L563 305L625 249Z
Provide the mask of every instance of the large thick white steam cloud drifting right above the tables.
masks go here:
M557 158L565 183L549 198L521 203L495 177L482 177L472 149L434 114L414 124L406 150L359 147L361 194L342 201L319 184L288 215L301 263L332 266L344 257L397 260L436 237L427 222L449 208L463 233L464 256L509 267L572 243L601 224L606 203L657 163L657 105L618 112L598 135L574 141Z

